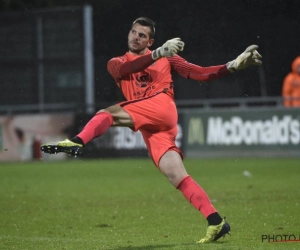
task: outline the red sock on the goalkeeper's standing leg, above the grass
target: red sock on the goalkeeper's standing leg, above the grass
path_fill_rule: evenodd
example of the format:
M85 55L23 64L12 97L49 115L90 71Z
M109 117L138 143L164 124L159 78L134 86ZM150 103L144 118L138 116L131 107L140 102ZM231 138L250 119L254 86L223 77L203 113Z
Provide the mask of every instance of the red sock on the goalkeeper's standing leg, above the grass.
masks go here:
M210 214L217 212L211 204L205 191L192 179L191 176L186 176L177 186L184 197L197 209L205 218Z

